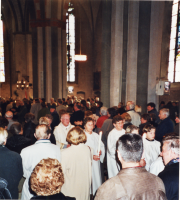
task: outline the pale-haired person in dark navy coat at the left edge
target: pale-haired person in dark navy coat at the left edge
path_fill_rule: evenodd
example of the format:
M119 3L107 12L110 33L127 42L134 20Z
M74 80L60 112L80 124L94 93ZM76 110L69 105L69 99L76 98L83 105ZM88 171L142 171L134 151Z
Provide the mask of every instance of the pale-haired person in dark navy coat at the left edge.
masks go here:
M8 182L12 199L18 199L18 185L23 176L21 156L10 151L4 145L6 144L7 132L0 128L0 177Z

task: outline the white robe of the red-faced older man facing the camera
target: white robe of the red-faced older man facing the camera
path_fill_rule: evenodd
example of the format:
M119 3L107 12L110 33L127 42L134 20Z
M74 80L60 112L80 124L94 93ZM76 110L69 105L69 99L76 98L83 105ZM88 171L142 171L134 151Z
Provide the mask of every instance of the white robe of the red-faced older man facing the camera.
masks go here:
M74 125L71 125L71 123L69 123L69 125L66 127L62 124L62 122L55 127L53 133L56 138L56 145L58 145L60 149L62 149L65 144L68 144L66 141L66 137L69 130L72 129L73 127Z

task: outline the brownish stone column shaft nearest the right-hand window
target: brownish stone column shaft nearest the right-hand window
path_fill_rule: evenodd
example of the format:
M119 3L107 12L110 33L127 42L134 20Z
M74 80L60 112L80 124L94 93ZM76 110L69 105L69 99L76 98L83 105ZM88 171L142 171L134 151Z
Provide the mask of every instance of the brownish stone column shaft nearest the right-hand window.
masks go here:
M159 104L156 95L156 79L160 77L163 13L164 2L152 1L147 103L154 102L156 105Z

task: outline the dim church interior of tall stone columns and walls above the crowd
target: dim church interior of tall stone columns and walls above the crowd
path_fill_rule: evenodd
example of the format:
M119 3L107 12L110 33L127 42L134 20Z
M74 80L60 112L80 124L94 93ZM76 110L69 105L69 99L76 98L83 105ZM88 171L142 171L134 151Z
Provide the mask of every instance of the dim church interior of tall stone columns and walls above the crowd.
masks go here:
M157 91L170 76L172 11L173 1L1 0L5 82L0 96L22 99L26 93L47 102L99 96L104 106L132 100L143 112L148 102L179 101L178 43L170 90ZM71 52L71 15L74 52L86 61L75 61ZM175 36L180 40L177 28ZM21 80L26 89L17 84Z

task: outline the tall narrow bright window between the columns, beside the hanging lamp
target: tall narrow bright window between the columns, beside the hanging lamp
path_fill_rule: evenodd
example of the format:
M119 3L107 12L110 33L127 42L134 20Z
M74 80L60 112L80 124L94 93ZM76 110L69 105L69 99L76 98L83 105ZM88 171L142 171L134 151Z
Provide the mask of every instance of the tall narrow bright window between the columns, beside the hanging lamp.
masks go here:
M67 43L67 81L75 82L75 16L74 7L69 2L66 13L66 43Z

